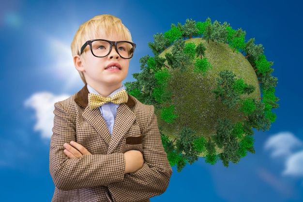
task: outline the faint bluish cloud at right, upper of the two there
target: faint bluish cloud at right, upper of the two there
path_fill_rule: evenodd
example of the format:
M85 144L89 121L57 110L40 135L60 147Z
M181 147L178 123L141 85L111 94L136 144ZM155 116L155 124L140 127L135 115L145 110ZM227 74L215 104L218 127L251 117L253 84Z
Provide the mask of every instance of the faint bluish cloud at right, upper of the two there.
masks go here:
M303 141L290 132L281 132L270 137L264 145L266 150L271 150L272 157L288 157L296 148L303 148Z

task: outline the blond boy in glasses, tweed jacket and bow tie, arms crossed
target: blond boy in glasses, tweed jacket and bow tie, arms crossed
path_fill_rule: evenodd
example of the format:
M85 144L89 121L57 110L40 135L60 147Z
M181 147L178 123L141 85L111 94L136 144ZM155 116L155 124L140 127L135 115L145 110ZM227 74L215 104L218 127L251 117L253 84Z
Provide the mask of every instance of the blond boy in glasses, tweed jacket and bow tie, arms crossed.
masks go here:
M166 190L172 170L153 106L122 85L135 47L115 16L95 16L76 32L71 49L85 86L55 103L52 202L149 202Z

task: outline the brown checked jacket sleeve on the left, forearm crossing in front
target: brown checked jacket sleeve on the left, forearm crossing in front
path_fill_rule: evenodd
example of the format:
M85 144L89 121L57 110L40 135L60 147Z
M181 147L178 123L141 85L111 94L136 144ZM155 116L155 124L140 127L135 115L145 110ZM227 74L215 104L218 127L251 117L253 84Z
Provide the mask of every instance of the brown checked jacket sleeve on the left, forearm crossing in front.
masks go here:
M83 155L69 158L63 154L63 144L76 141L75 105L55 104L53 135L50 141L49 171L55 186L73 190L106 186L124 179L125 159L122 153L110 155Z

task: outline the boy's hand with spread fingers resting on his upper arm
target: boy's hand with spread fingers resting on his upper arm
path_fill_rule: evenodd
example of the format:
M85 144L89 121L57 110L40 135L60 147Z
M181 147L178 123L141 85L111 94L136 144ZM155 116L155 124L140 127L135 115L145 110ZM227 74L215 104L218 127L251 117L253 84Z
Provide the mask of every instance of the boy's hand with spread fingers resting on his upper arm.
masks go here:
M91 155L87 149L85 149L81 144L78 144L75 141L71 141L70 144L64 143L64 154L70 158L81 158L82 155Z

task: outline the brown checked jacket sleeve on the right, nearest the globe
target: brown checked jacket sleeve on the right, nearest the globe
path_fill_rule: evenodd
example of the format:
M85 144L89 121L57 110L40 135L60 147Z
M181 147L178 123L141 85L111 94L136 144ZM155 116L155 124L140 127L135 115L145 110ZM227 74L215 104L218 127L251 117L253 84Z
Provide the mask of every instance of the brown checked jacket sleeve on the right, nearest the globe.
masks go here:
M167 189L172 169L164 151L153 106L150 108L142 130L143 167L125 174L123 181L108 185L111 196L117 202L142 201L160 195Z

